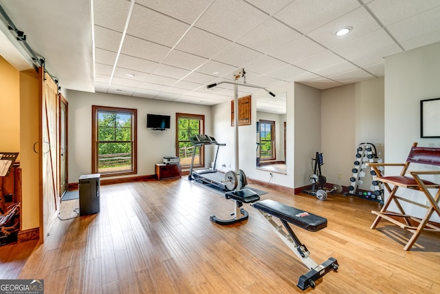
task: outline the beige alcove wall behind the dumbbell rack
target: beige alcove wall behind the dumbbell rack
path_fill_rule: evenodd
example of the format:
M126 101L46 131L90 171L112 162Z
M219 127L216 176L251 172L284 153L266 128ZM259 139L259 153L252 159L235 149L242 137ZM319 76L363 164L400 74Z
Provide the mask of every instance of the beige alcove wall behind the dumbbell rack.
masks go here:
M327 182L349 186L360 143L373 143L384 159L384 78L323 90L321 97L322 174ZM363 171L358 188L373 191L371 169Z

